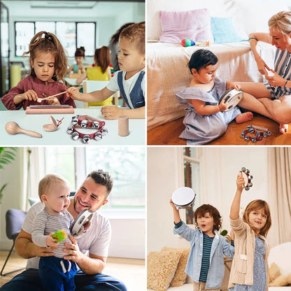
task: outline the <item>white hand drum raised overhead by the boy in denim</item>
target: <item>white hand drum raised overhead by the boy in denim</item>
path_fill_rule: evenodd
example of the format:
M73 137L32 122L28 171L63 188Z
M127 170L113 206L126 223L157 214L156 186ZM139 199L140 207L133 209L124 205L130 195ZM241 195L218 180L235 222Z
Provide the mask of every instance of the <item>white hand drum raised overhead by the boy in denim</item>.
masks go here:
M190 187L180 187L172 194L172 201L177 209L193 207L196 193Z

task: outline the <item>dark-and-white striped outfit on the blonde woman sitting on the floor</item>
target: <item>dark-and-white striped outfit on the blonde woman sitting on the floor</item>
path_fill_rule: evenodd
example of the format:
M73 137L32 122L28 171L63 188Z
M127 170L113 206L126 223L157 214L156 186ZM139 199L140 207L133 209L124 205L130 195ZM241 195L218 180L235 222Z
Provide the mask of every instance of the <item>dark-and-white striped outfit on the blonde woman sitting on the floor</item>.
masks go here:
M291 79L291 54L288 50L276 50L274 71L285 80ZM268 82L264 82L264 85L271 93L272 99L279 99L284 95L291 94L291 88L284 86L271 86Z

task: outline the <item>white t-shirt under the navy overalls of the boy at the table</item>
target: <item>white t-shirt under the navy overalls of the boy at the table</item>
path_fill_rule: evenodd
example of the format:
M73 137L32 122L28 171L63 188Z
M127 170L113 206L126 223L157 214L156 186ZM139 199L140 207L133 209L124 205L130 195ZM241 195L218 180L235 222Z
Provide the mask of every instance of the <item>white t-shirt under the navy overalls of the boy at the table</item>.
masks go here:
M145 71L145 69L141 70ZM137 72L132 76L132 78L129 78L125 80L125 74L127 72L122 71L122 83L123 83L123 88L125 89L125 94L129 96L129 93L132 92L132 89L134 85L136 84L136 80L139 78L139 73L141 71ZM119 86L118 86L118 72L117 71L114 73L114 76L112 79L109 81L109 83L106 85L108 90L111 90L113 92L118 92L119 91ZM143 90L143 97L146 97L146 77L143 77L143 80L141 80L141 90Z

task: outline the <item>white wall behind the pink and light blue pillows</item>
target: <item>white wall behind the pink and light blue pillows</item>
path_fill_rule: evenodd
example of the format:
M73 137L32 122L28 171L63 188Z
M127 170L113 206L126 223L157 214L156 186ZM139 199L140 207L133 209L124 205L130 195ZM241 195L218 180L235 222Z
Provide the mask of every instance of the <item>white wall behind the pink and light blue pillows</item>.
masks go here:
M189 11L207 8L213 17L232 17L242 38L253 31L268 32L269 18L282 10L290 10L289 0L147 0L147 38L159 40L162 31L159 11ZM257 13L260 11L260 13ZM247 20L247 21L246 21Z

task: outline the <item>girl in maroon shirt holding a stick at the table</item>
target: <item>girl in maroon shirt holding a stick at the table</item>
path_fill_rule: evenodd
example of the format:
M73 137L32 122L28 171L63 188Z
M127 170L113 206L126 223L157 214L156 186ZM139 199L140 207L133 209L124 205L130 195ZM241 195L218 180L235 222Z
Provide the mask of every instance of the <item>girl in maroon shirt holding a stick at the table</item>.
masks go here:
M44 34L44 37L42 37ZM5 96L1 98L3 105L9 110L19 110L30 105L59 105L68 104L76 107L73 99L66 93L56 99L44 100L38 103L38 98L45 98L68 88L63 80L66 74L67 60L62 44L55 34L46 31L38 32L29 43L29 76L20 80Z

